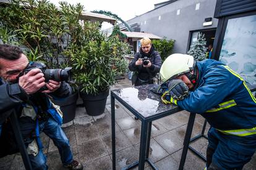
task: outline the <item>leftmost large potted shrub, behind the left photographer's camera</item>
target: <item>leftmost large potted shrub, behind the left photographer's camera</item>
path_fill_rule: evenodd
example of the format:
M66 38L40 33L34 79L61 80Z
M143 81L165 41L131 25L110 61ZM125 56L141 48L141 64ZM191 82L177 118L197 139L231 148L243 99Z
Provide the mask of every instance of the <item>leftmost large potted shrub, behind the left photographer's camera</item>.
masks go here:
M64 55L72 41L76 41L79 15L83 7L60 2L60 9L48 1L12 0L0 7L0 38L12 39L25 51L30 61L44 62L48 68L72 67ZM9 36L9 38L5 38ZM4 41L3 41L4 42ZM67 98L54 98L61 106L63 123L75 117L78 93Z

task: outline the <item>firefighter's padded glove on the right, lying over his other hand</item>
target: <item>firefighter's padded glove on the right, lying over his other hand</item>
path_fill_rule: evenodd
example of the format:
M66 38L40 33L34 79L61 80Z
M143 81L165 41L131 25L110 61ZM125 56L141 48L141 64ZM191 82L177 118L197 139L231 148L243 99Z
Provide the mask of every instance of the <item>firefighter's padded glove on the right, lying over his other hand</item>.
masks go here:
M183 100L189 95L189 87L181 79L173 79L168 83L169 95L173 99Z

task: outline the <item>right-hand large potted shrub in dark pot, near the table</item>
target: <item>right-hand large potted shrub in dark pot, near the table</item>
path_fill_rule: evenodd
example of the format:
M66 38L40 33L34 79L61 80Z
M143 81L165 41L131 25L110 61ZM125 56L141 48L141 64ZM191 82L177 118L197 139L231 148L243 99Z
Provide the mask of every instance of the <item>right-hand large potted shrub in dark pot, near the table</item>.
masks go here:
M117 75L127 70L123 55L129 48L117 36L102 33L97 22L85 22L79 35L66 55L74 63L75 84L80 89L87 114L101 115L109 87L116 83Z

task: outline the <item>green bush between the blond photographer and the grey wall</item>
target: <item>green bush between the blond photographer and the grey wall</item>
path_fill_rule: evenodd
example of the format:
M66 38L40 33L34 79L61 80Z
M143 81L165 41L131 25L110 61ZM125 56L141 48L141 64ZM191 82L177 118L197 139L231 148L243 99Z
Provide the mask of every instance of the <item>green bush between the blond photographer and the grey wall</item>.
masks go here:
M162 61L164 61L169 55L171 55L174 46L174 39L153 39L152 41L155 50L161 55Z

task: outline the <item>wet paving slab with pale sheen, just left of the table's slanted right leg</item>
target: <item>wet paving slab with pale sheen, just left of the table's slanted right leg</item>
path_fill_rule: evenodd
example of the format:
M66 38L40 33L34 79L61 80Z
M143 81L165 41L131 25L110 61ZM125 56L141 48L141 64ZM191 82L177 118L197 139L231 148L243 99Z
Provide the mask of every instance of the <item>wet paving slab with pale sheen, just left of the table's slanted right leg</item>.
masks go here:
M176 136L174 131L168 131L160 136L154 137L154 139L169 154L177 152L177 150L180 150L183 147L183 141Z

